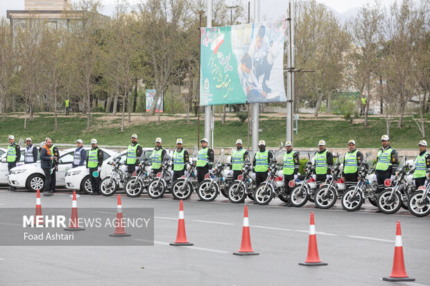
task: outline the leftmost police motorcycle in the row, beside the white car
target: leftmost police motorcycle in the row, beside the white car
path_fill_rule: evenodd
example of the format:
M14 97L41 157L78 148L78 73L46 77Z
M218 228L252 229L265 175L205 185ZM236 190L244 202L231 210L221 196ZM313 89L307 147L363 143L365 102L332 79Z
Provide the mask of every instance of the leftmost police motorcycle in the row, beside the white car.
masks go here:
M112 174L106 176L100 183L100 192L102 195L109 197L114 195L117 192L118 188L124 186L128 179L127 171L122 170L123 167L126 167L123 163L121 163L121 154L118 154L117 157L114 157L112 161Z

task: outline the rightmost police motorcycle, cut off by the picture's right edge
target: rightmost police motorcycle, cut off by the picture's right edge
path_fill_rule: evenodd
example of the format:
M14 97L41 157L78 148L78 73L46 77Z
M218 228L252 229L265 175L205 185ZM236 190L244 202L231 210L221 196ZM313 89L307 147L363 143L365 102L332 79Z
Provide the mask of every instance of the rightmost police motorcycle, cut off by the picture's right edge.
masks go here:
M426 184L418 187L408 199L409 212L417 217L424 217L430 213L430 172L426 175Z

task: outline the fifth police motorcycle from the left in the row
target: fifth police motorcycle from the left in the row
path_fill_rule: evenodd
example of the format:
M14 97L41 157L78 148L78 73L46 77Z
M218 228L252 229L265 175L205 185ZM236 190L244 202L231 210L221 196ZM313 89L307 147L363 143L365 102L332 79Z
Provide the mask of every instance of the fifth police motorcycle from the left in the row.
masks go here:
M218 161L214 164L214 170L205 175L205 179L200 182L198 186L197 195L202 201L213 201L218 193L222 193L224 197L227 195L227 186L230 184L230 170L225 170L228 163L224 163L224 149L218 157Z

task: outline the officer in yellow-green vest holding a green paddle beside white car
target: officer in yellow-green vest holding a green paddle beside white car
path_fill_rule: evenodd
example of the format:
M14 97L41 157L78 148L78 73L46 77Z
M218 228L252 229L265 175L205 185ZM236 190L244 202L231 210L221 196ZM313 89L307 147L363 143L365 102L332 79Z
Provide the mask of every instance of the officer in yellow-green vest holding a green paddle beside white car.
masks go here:
M91 180L92 195L98 195L101 164L103 164L103 150L98 149L96 139L91 139L91 149L87 152L87 169Z

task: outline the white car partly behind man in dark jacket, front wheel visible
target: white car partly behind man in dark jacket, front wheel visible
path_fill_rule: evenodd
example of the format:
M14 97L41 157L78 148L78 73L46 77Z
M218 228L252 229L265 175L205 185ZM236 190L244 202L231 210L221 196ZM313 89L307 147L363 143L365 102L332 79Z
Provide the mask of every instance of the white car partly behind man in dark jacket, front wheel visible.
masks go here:
M105 159L115 154L112 150L101 149L105 153ZM71 169L75 150L76 148L70 148L60 151L58 171L55 172L55 186L65 186L65 174ZM85 150L89 150L89 148L85 148ZM45 176L42 168L40 168L40 163L25 164L10 170L9 184L15 188L28 188L28 190L35 192L37 189L42 190L44 180Z

